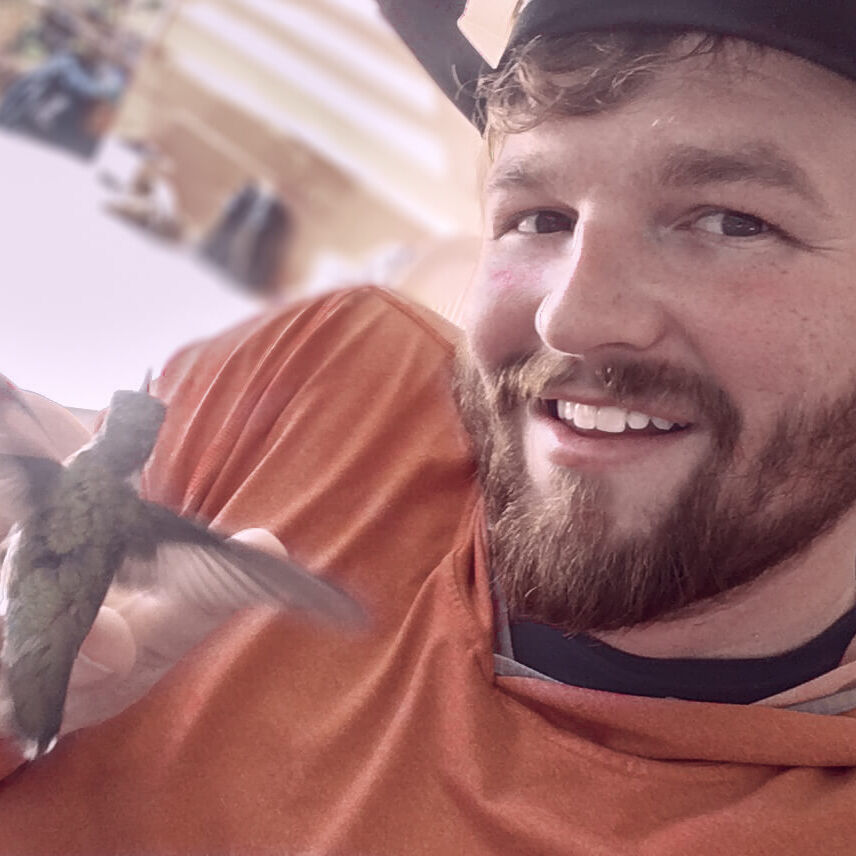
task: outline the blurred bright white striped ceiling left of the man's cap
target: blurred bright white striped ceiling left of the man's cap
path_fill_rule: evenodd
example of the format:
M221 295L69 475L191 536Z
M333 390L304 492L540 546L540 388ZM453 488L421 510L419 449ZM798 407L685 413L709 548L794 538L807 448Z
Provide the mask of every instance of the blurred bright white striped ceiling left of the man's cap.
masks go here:
M179 0L161 46L420 228L475 229L478 137L374 0Z

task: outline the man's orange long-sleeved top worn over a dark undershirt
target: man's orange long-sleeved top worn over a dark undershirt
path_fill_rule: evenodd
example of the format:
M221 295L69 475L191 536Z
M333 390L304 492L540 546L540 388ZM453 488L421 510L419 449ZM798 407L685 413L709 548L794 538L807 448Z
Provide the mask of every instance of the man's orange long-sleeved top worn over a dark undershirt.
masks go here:
M6 777L3 856L856 852L850 714L497 674L453 336L357 289L172 361L148 495L271 529L373 629L237 618Z

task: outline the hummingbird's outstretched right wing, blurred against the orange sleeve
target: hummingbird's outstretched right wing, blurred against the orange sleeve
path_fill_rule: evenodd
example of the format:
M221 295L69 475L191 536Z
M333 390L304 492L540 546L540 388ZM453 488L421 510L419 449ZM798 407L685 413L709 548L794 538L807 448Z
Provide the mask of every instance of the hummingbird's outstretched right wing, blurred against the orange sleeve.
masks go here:
M145 569L148 584L170 587L215 611L267 604L346 624L364 621L353 598L297 562L228 540L164 506L141 505L146 519L129 541L130 561L120 570L119 582L145 583L127 576Z

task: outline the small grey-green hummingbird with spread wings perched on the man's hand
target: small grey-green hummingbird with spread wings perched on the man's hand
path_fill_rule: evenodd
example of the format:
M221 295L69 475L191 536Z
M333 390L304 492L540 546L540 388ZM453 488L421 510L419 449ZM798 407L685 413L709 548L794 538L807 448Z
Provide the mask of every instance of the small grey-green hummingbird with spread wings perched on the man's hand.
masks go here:
M152 568L164 545L205 551L199 570L180 584L216 589L225 583L251 601L306 610L343 624L360 623L361 608L336 586L288 559L229 541L203 523L142 499L133 479L154 448L166 406L147 392L113 394L106 421L65 463L40 455L0 454L0 472L17 470L23 515L6 539L0 567L0 695L25 757L56 743L71 668L112 581ZM26 403L0 382L3 405ZM5 396L5 397L4 397ZM129 560L144 560L129 561ZM156 563L155 563L156 566ZM145 583L145 581L142 581ZM149 581L151 582L151 580Z

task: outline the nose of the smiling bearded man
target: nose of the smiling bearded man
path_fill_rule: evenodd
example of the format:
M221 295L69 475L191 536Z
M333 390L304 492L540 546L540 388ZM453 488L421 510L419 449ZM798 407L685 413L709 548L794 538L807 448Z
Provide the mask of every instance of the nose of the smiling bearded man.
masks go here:
M580 356L599 348L645 351L663 337L656 249L631 235L614 223L577 223L542 280L535 329L548 348Z

